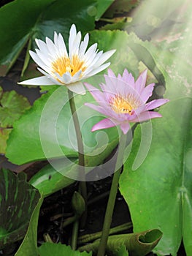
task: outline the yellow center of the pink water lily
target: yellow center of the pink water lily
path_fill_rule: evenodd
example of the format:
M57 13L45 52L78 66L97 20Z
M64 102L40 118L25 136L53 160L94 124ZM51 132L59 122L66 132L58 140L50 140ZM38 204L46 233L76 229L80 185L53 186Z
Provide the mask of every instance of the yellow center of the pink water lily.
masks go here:
M131 95L127 95L127 97L115 95L115 97L110 99L110 105L115 113L128 113L131 115L131 111L138 108L139 102L134 97L131 97Z

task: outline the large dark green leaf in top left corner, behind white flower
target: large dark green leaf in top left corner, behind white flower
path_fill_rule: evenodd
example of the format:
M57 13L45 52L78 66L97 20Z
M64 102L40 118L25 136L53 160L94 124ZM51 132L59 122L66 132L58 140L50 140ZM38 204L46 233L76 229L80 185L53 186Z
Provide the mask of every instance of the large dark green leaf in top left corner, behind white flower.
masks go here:
M88 8L95 4L94 0L15 0L1 7L1 75L6 75L29 39L33 47L36 37L53 38L53 31L61 32L68 39L72 23L82 32L93 29L95 18L88 14Z

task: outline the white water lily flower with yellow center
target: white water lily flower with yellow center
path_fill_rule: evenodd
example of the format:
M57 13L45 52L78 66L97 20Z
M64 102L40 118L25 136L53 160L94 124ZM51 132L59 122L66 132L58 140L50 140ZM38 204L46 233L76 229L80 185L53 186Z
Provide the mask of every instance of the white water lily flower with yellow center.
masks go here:
M104 64L115 53L109 50L106 53L97 49L97 44L88 47L89 36L85 35L81 41L81 32L77 33L73 24L69 32L69 53L66 50L64 38L61 34L54 34L54 42L46 37L46 42L36 39L39 49L36 53L29 51L32 59L38 64L38 69L44 76L28 79L20 84L32 86L67 86L70 91L85 94L85 88L80 80L96 75L110 66Z

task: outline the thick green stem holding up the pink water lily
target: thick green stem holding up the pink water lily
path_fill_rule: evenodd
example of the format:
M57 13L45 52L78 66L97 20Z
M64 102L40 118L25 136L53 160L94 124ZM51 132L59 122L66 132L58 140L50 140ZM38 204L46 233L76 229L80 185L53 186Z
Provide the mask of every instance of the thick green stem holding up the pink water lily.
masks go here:
M112 222L112 214L113 214L113 209L115 206L115 199L116 199L116 195L118 192L118 184L119 184L119 178L120 178L120 172L122 169L122 165L123 165L123 152L124 149L126 148L126 135L121 134L120 136L120 143L119 143L119 148L118 148L118 158L117 158L117 162L115 165L115 173L113 175L112 178L112 186L110 189L110 196L108 199L108 203L107 203L107 209L105 212L105 217L104 217L104 225L103 225L103 230L102 230L102 234L101 234L101 241L99 243L99 249L98 249L98 253L97 256L104 256L105 255L105 249L107 246L107 239L110 233L110 226L111 226L111 222Z

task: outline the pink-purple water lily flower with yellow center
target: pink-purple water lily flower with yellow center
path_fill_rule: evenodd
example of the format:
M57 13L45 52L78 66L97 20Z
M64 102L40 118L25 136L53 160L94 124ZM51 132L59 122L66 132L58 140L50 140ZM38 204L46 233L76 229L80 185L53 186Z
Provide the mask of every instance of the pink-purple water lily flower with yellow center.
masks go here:
M154 99L147 102L155 86L154 83L145 86L147 70L142 72L136 81L127 69L117 78L112 70L108 69L108 75L104 75L104 78L105 84L100 84L101 91L85 83L86 88L99 104L85 103L85 105L107 116L93 126L92 132L120 125L120 129L126 134L132 122L161 117L160 113L150 110L164 105L169 99Z

